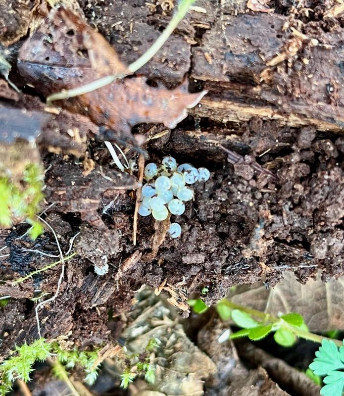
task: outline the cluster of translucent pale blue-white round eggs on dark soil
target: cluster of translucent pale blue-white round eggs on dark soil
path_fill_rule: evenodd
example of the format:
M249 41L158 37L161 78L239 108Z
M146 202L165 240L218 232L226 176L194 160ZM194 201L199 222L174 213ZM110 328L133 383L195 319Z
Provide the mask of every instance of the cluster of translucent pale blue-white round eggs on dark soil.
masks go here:
M153 216L155 220L163 221L168 212L181 215L185 211L185 203L194 198L194 191L187 185L196 182L206 182L210 172L206 168L195 168L185 163L177 165L176 160L164 157L161 166L150 162L145 167L147 183L142 187L142 202L139 206L141 216ZM178 238L182 228L178 223L172 223L169 234Z

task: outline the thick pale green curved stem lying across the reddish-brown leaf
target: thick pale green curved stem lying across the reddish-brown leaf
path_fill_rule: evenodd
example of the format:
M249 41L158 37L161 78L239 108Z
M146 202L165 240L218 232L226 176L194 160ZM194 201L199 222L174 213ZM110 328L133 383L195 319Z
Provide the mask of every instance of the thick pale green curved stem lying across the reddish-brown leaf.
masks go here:
M144 66L149 60L158 52L158 50L165 44L166 40L171 36L173 31L178 26L179 22L184 18L186 13L188 12L191 4L195 0L184 0L178 7L177 12L172 17L169 24L166 26L165 30L161 33L158 39L152 44L152 46L147 49L147 51L139 57L139 59L135 60L135 62L131 63L128 66L128 71L130 73L135 73L142 66ZM57 92L56 94L52 94L47 98L47 104L50 105L54 100L68 99L74 98L76 96L85 95L90 92L96 91L99 88L105 87L108 84L111 84L116 79L122 79L126 75L110 75L99 78L98 80L92 81L90 84L83 85L81 87L77 87L71 90L63 90L61 92Z

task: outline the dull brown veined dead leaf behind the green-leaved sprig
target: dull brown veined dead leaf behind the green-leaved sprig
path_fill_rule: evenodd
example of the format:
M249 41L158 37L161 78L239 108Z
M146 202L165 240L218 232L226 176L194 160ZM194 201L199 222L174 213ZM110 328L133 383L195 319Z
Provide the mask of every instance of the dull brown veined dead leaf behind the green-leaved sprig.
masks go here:
M285 272L283 277L283 281L269 290L262 283L249 290L238 288L231 300L273 315L298 312L312 332L344 329L343 278L324 283L318 276L316 281L301 285L292 272Z

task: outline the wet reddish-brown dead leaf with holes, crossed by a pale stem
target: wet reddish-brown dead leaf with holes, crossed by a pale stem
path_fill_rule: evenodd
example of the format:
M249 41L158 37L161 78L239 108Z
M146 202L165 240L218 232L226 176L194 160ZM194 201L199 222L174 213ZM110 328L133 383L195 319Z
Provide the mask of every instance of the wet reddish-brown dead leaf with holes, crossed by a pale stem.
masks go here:
M52 10L45 23L24 43L18 67L44 95L77 88L111 74L129 74L107 41L80 15L62 7ZM145 77L133 77L64 100L62 104L132 140L130 129L140 122L163 123L174 128L205 93L189 94L186 83L174 90L154 88L147 85Z

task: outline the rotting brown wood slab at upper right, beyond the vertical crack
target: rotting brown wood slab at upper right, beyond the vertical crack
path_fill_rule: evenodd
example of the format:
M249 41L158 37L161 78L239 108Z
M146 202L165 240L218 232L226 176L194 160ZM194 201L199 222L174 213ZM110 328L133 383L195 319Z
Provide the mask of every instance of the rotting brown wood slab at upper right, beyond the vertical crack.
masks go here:
M219 18L193 48L191 77L205 81L209 94L192 114L234 123L258 116L281 125L342 132L344 105L336 98L344 96L343 29L302 35L301 40L283 30L286 22L275 14ZM294 39L300 40L297 50L267 67Z

